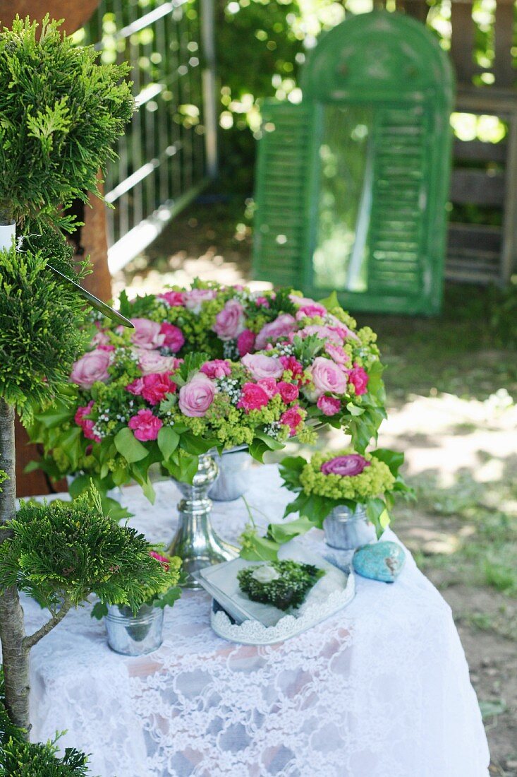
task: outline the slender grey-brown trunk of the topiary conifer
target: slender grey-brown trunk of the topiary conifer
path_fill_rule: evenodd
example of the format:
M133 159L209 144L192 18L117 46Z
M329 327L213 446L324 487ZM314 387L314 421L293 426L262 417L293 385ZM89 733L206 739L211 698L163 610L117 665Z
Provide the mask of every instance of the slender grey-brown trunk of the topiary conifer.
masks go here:
M14 408L0 399L0 468L8 479L0 493L0 526L16 514L16 452ZM9 538L9 531L0 529L0 543ZM12 723L29 734L29 650L23 643L25 626L23 609L16 587L0 595L0 640L5 678L5 706Z

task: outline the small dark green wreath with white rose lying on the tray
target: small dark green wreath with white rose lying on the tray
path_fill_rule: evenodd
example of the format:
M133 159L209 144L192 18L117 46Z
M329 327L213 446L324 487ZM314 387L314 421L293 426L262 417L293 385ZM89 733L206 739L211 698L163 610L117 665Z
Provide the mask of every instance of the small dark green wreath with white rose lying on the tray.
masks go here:
M253 601L273 605L279 610L300 607L324 570L297 561L272 561L248 566L237 573L239 587Z

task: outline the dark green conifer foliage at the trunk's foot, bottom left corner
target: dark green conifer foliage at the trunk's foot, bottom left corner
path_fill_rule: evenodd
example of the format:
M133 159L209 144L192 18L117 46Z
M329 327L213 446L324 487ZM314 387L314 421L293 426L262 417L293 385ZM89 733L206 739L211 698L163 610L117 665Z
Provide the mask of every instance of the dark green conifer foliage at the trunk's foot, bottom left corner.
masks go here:
M73 747L57 755L56 740L33 744L14 726L4 704L4 677L0 667L0 777L88 777L88 758Z

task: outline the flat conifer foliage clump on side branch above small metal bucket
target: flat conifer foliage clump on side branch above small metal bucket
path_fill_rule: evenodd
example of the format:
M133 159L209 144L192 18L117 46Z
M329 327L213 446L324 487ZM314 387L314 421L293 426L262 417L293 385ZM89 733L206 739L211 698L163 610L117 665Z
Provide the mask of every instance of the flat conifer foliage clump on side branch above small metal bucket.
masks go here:
M22 503L7 527L12 536L0 545L0 589L16 584L50 611L63 601L80 605L92 593L137 610L171 585L144 535L104 517L93 492L74 502Z

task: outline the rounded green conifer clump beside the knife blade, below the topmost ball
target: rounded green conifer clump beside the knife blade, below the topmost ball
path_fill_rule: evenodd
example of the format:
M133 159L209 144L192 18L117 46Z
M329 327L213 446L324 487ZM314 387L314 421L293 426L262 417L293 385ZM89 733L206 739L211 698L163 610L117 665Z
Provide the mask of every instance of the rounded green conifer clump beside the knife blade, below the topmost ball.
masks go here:
M14 248L0 253L0 397L23 420L54 399L87 342L84 301L47 260Z

